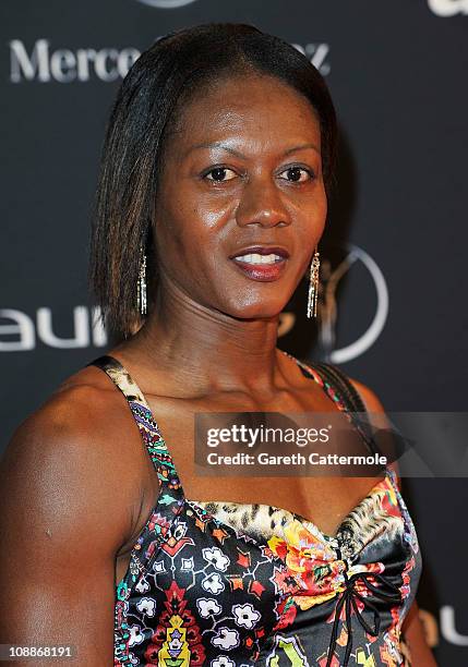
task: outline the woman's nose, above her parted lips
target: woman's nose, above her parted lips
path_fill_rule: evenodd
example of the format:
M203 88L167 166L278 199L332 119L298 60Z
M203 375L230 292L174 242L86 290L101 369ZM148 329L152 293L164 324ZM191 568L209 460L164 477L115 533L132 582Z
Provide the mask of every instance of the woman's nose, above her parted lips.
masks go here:
M272 179L251 180L242 190L236 220L240 227L261 225L275 227L290 225L290 216L278 186Z

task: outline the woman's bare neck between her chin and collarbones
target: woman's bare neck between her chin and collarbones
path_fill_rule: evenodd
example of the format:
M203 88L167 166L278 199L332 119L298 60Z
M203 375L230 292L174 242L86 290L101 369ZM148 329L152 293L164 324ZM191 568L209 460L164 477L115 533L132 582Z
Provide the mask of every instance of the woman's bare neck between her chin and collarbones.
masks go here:
M145 366L177 366L178 384L192 389L274 392L285 359L276 348L279 315L240 319L177 299L155 310L140 331L121 345L144 352ZM290 363L286 360L286 363Z

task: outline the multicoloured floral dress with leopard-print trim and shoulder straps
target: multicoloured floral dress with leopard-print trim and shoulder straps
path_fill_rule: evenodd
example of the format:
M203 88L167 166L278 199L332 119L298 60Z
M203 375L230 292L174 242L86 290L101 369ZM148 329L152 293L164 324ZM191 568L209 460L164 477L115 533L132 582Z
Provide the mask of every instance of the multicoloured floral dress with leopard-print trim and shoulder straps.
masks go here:
M127 398L160 482L116 587L116 666L410 665L401 623L421 555L392 469L336 536L280 508L190 500L129 373L108 355L92 364Z

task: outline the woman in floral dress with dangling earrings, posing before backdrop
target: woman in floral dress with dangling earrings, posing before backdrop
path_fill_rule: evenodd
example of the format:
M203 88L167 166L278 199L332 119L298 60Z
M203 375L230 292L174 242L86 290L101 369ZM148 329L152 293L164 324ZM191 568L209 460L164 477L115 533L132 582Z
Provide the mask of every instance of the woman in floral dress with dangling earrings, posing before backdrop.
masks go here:
M86 666L435 664L391 468L223 488L194 474L197 412L347 410L276 347L309 267L315 306L335 135L317 71L250 26L170 35L129 72L91 271L122 342L8 450L1 641L74 645Z

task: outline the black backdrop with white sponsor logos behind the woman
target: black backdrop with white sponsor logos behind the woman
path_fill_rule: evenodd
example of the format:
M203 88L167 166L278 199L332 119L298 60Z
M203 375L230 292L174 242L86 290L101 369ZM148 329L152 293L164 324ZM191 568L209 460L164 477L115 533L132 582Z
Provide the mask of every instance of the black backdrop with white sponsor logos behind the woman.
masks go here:
M467 410L468 0L3 0L0 17L2 449L111 343L86 289L107 114L145 48L205 22L287 39L337 108L321 318L305 318L304 282L280 347L338 364L388 411ZM403 484L428 640L440 665L465 666L468 480Z

